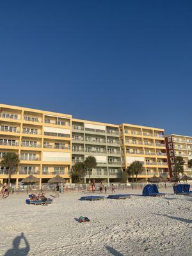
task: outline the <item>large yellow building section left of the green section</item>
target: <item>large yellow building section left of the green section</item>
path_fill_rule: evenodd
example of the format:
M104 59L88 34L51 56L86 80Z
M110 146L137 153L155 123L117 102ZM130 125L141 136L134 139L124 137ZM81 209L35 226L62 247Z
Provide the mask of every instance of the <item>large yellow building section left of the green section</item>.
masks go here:
M72 116L0 104L0 157L19 154L19 170L12 174L16 185L29 174L47 182L60 174L70 182ZM0 181L8 178L1 167Z

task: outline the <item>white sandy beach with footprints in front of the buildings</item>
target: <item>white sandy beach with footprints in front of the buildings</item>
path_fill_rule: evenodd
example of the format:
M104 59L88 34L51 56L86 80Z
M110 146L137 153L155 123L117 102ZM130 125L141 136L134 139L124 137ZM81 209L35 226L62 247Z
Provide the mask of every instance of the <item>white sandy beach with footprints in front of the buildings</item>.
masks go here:
M0 255L192 255L192 196L168 192L164 198L134 195L102 202L79 201L83 194L67 193L48 206L26 205L26 195L0 199ZM81 215L90 223L74 220ZM28 253L13 250L21 232Z

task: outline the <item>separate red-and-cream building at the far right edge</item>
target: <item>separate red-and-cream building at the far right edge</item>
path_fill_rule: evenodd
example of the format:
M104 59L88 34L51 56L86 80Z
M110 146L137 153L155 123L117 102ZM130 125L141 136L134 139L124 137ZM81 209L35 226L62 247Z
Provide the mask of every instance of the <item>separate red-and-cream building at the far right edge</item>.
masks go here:
M192 159L192 137L170 134L166 136L166 150L168 154L168 164L170 169L170 176L173 176L173 170L175 166L175 157L183 157L184 173L189 177L192 177L192 170L188 168L188 161Z

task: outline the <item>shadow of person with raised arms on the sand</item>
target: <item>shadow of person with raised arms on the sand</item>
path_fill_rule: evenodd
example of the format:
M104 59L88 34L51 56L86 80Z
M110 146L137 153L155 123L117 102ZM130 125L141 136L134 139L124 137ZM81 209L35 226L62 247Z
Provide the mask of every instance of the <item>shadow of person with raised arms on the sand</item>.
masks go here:
M23 240L25 243L24 248L19 248L20 246L20 241ZM28 240L24 236L23 233L21 233L20 236L17 236L13 239L13 248L8 250L4 256L27 256L30 250L30 246L28 243Z

